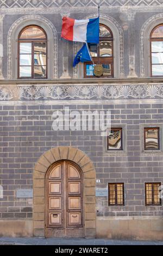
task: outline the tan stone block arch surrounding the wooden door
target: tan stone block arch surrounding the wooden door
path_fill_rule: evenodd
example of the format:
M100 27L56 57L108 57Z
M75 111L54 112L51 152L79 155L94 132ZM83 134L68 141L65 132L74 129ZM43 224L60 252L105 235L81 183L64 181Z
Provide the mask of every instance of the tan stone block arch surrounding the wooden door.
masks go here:
M48 150L37 161L33 174L33 229L34 236L45 236L46 221L46 173L59 160L76 163L84 177L84 233L96 237L96 170L90 158L81 150L72 147L57 147Z

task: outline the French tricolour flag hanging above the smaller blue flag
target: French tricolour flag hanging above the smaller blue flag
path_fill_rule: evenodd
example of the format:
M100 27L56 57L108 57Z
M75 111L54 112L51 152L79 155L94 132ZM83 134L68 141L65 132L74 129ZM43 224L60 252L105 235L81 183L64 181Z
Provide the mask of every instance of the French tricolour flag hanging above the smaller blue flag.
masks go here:
M87 20L62 18L61 37L76 42L99 43L99 17Z

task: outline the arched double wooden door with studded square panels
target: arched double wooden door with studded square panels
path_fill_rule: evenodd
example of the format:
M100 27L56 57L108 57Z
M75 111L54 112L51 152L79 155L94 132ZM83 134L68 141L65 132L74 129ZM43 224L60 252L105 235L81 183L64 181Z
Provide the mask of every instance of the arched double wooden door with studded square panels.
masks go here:
M71 161L47 171L46 237L84 237L83 173Z

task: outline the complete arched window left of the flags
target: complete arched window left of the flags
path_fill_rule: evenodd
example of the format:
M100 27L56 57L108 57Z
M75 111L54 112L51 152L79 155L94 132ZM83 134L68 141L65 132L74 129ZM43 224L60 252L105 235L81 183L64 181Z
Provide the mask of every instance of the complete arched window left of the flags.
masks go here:
M47 78L47 35L39 26L18 35L18 78Z

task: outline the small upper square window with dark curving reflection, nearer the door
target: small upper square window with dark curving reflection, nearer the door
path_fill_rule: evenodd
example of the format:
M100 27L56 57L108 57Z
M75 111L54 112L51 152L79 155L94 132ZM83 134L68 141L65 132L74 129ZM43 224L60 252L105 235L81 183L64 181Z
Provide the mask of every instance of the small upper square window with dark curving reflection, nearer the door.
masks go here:
M109 131L107 148L108 150L122 150L122 128Z

